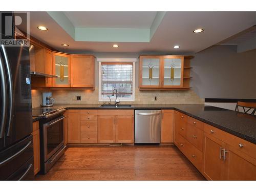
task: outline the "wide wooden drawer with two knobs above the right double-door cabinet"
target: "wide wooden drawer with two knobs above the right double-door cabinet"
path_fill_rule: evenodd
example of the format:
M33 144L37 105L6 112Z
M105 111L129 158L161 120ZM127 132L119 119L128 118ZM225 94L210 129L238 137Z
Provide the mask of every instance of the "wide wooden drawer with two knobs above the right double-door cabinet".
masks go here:
M241 151L250 157L256 159L256 145L241 139L237 136L231 135L227 132L224 132L217 127L211 126L209 124L204 123L204 133L212 135L225 143L233 146L236 150ZM240 145L242 144L242 145Z

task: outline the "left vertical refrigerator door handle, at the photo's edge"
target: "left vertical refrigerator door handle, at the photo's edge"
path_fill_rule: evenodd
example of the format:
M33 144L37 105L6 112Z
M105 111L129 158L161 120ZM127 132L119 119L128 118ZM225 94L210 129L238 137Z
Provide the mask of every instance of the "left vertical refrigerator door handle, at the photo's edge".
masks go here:
M4 137L5 125L6 125L6 111L7 111L7 86L6 86L6 74L5 68L2 60L2 52L0 51L0 89L1 89L1 98L2 98L2 117L0 121L0 139Z

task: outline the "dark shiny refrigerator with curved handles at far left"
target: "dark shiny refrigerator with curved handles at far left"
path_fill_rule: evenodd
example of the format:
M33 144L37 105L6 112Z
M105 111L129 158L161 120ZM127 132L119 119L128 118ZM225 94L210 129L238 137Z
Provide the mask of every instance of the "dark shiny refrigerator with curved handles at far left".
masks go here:
M34 179L31 134L29 48L0 45L0 180Z

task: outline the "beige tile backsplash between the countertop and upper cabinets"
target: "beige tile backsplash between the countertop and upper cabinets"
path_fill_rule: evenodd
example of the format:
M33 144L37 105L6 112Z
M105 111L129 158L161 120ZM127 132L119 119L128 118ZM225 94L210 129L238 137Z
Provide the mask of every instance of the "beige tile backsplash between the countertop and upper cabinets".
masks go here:
M32 107L40 106L42 90L32 90ZM48 91L47 91L48 92ZM97 104L99 101L98 89L95 90L51 90L55 103L65 104ZM81 100L76 100L81 96ZM157 96L157 101L154 100ZM135 90L135 101L122 102L131 104L204 104L193 90L188 91L140 91Z

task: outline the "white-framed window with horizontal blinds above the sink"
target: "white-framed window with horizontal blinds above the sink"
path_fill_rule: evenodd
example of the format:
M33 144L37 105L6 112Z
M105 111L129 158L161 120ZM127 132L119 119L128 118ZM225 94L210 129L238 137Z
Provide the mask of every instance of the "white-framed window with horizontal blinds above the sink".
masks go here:
M135 62L99 62L99 101L134 101Z

